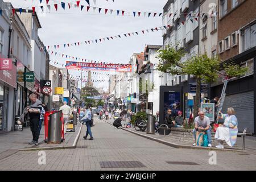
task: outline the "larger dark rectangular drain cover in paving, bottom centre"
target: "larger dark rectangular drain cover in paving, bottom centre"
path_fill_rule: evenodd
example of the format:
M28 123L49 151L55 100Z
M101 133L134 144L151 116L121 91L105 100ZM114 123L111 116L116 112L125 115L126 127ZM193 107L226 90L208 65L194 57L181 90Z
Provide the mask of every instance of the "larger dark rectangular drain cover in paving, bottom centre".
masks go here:
M146 167L139 161L109 161L100 162L101 168L141 168Z

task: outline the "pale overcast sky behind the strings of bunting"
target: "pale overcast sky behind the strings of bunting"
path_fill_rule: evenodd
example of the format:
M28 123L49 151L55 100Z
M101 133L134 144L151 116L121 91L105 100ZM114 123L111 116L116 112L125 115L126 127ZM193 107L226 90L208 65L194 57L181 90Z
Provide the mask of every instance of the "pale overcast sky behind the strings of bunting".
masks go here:
M46 5L46 0L40 4L39 0L3 0L5 2L11 2L14 8L26 9L26 7ZM49 0L48 5L53 5L56 2L73 2L74 0ZM155 28L162 26L162 16L155 18L148 16L134 17L133 11L141 12L152 12L162 13L163 7L167 3L167 0L96 0L94 5L93 0L90 0L90 6L101 7L102 11L98 14L98 10L93 12L90 9L86 12L86 7L81 12L80 7L75 8L74 6L69 10L68 4L65 4L65 11L61 9L61 5L58 6L58 11L55 7L51 7L51 11L48 11L47 7L44 6L45 13L40 13L40 8L36 9L38 13L40 24L42 28L39 29L38 35L43 41L45 46L53 46L57 44L84 42L85 40L100 39L115 35L123 35L130 32L146 30L149 28ZM86 1L81 0L80 6L88 6ZM125 13L122 16L121 13L117 16L116 11L113 14L105 14L104 9L114 10L125 10L130 11L131 14ZM131 36L128 38L116 39L112 41L106 41L98 44L83 44L82 46L73 46L59 49L52 49L54 52L61 53L64 55L71 55L75 57L81 57L83 59L100 61L105 63L129 63L130 56L133 53L140 53L144 51L146 44L162 45L162 31L150 31L144 35ZM72 61L71 59L65 59L62 56L50 55L50 59L58 61L60 64L65 65L65 61ZM75 60L73 60L75 61ZM70 71L72 75L81 75L81 72ZM109 72L104 72L108 74ZM84 73L83 76L86 76ZM96 78L93 76L93 78ZM104 78L104 75L102 76ZM106 77L105 77L105 80ZM96 84L97 87L104 86L104 89L108 87L108 82L105 84Z

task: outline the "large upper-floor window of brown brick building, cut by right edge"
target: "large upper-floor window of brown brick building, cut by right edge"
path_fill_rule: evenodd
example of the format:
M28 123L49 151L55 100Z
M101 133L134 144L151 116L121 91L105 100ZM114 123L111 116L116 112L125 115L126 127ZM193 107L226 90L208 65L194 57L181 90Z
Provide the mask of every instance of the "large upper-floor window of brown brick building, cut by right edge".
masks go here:
M256 23L242 30L243 52L256 46Z

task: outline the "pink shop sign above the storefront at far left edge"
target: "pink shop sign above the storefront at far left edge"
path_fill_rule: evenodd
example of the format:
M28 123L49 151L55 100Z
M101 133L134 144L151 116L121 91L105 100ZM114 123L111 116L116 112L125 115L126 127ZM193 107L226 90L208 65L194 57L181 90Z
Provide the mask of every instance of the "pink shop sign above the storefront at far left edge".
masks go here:
M12 70L0 70L0 80L16 88L16 67L13 65Z

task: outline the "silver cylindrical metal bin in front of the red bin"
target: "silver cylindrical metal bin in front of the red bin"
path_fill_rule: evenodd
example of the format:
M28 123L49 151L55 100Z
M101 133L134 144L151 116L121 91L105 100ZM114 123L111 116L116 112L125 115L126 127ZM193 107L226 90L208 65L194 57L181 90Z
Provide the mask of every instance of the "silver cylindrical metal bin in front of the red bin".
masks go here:
M48 143L61 143L61 122L62 111L49 115L48 122Z

